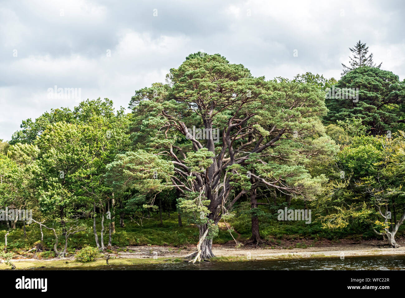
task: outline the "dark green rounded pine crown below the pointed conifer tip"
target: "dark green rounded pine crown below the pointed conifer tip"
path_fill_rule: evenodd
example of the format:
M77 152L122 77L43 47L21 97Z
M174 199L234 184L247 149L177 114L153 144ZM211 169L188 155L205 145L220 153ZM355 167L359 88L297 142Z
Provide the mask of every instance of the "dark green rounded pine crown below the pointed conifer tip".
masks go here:
M361 119L371 135L386 135L401 129L404 119L405 82L390 71L358 67L344 75L335 88L358 88L358 101L332 96L325 102L329 109L327 124Z

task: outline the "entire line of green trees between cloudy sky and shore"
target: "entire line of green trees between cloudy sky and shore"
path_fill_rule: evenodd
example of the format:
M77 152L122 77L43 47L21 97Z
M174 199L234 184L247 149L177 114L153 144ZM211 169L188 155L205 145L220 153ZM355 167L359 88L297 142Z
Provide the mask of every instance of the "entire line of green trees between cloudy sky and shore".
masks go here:
M372 229L398 247L405 80L375 67L367 51L359 41L339 81L312 73L266 80L198 52L165 83L137 90L131 113L98 98L24 120L0 143L0 206L32 209L32 224L52 231L62 256L73 234L92 228L105 250L116 222L151 212L162 221L165 210L196 225L189 257L208 259L218 223L241 202L249 204L249 244L264 241L261 207L301 202L326 230ZM358 90L357 100L326 96L328 88ZM92 227L79 221L90 218ZM25 233L25 221L3 223Z

